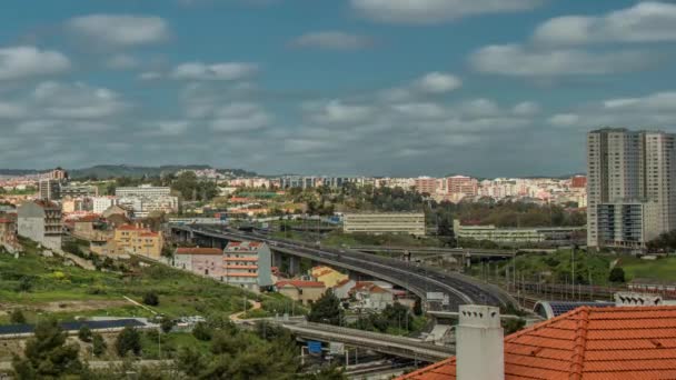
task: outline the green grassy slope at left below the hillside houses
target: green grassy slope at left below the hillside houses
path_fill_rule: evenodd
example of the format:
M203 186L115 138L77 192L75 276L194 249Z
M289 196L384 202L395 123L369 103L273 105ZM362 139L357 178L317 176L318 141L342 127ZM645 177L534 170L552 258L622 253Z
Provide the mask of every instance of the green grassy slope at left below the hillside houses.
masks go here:
M246 293L241 289L160 264L137 267L129 274L97 272L67 267L60 258L40 257L32 244L28 244L27 251L18 260L0 253L0 303L27 309L29 320L40 309L48 309L49 302L62 302L62 310L54 312L59 318L149 316L142 308L126 304L123 296L141 301L150 290L157 292L160 299L160 304L153 309L170 317L215 312L229 314L242 309ZM24 277L30 278L32 288L28 292L19 292L17 289ZM256 296L249 293L248 298ZM107 306L107 301L113 306ZM84 307L96 303L101 308L96 309L95 304L93 310L70 310L77 303ZM0 316L0 321L7 321L7 317Z

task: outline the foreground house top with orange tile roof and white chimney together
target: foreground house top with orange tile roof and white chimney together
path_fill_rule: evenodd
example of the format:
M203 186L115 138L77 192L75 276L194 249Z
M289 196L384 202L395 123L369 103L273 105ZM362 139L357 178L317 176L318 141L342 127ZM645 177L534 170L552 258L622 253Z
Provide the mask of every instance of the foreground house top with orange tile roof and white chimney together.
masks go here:
M674 321L674 306L581 307L503 337L498 308L460 306L456 357L398 380L672 379Z

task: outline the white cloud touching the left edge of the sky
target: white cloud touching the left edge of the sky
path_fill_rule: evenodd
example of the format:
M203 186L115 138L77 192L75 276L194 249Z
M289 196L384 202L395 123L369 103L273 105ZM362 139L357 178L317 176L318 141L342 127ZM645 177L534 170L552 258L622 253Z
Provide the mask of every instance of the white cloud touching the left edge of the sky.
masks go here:
M70 69L70 60L58 51L36 47L0 49L0 80L62 73Z

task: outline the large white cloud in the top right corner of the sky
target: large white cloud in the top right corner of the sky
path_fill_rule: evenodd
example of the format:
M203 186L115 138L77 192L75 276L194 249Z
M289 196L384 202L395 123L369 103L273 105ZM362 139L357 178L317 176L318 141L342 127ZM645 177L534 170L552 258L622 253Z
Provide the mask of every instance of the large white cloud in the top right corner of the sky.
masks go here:
M541 44L676 41L676 4L644 1L600 17L565 16L541 23Z

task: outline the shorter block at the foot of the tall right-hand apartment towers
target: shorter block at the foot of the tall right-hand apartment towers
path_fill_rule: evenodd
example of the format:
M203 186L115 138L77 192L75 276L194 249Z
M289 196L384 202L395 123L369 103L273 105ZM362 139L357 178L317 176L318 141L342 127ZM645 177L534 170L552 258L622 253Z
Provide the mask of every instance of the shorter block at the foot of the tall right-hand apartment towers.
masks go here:
M600 203L596 207L598 242L603 247L643 249L659 234L657 202Z

